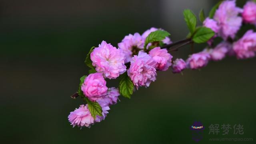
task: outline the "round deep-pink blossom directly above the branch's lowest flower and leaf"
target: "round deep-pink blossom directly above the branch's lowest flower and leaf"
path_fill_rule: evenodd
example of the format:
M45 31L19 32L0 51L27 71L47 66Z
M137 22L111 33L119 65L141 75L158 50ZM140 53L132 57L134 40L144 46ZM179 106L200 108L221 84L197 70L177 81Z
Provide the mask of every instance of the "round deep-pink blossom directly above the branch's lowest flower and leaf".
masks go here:
M89 74L81 86L84 95L91 101L95 102L98 98L106 94L108 88L106 87L106 80L102 73Z

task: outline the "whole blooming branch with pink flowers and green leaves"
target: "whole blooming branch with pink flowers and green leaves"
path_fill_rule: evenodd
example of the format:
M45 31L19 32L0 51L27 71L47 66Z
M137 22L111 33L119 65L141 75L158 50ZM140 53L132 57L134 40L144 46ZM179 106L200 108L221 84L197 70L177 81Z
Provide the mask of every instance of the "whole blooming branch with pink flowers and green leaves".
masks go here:
M191 10L184 10L184 19L189 34L184 40L172 42L170 33L161 28L150 28L142 35L129 34L118 43L118 48L102 41L98 47L92 47L86 56L85 64L90 68L88 76L80 78L78 96L84 104L70 112L68 120L73 126L90 127L104 120L110 106L117 103L118 96L131 98L140 87L149 87L156 80L157 71L171 68L173 73L185 69L196 70L207 66L210 61L219 61L226 56L238 59L252 58L256 52L256 32L248 30L240 39L235 39L242 22L256 25L256 3L248 1L244 8L238 8L235 0L225 0L216 4L205 17L200 11L197 18ZM214 39L222 42L214 45ZM201 52L191 54L187 60L173 60L172 52L188 44L207 43ZM192 45L193 46L193 45ZM108 88L106 78L120 78L118 88Z

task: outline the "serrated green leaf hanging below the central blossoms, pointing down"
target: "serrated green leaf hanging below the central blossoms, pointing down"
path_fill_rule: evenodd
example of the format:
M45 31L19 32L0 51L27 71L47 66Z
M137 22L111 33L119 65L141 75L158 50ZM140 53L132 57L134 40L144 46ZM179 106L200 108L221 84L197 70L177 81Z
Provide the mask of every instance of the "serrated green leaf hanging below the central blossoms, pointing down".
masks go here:
M119 93L126 97L126 98L131 98L131 95L133 93L133 83L130 77L127 75L127 73L122 74L121 81L119 83Z

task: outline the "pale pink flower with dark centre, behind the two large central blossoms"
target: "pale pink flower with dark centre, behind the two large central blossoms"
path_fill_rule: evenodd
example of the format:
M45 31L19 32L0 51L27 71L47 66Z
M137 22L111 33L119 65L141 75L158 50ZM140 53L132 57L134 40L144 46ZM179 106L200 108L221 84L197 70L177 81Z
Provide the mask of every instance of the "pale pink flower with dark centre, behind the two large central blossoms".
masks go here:
M118 47L125 54L124 62L130 62L133 56L133 52L143 49L143 46L144 40L139 33L135 33L134 35L129 34L128 36L124 37L122 42L118 43Z

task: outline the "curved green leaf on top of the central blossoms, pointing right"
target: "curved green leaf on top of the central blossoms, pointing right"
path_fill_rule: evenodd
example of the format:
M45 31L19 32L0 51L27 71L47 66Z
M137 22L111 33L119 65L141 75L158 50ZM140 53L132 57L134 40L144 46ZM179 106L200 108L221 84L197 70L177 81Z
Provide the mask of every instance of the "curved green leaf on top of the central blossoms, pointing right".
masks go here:
M170 33L166 32L165 30L156 30L154 32L151 32L146 38L144 50L146 50L146 47L150 42L158 42L164 40L166 36L170 36Z

